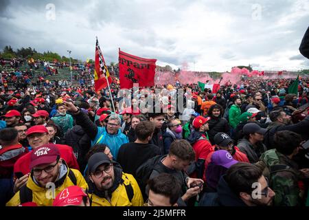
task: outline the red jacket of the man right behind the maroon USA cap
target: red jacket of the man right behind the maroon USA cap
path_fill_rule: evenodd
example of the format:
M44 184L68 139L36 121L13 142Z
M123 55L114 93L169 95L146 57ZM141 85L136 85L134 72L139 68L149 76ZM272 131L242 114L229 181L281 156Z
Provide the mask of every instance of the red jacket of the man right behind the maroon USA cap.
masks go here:
M78 166L78 162L73 153L73 148L71 148L71 146L63 145L63 144L56 144L56 146L58 147L60 151L60 157L62 159L65 159L65 162L67 162L67 165L69 166L69 168L79 170L80 167ZM31 171L30 170L30 159L31 159L31 152L19 158L14 164L14 174L17 172L21 172L23 173L23 175L30 173Z

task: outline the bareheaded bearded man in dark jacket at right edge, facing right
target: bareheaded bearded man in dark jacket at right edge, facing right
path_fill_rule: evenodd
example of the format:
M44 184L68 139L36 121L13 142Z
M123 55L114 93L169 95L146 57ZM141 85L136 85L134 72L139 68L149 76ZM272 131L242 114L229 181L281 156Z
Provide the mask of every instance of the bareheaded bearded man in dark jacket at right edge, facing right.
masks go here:
M301 110L297 110L297 111L301 111ZM295 111L295 113L297 111ZM296 124L290 124L291 123L290 115L286 114L286 112L283 111L282 109L279 109L277 111L272 111L269 114L269 118L271 119L271 123L268 124L268 127L267 127L268 131L264 137L264 144L266 145L268 149L274 148L273 147L273 135L275 135L277 131L293 131L301 135L303 140L308 140L309 115L307 115L306 118L304 118L304 120L301 120L300 122Z

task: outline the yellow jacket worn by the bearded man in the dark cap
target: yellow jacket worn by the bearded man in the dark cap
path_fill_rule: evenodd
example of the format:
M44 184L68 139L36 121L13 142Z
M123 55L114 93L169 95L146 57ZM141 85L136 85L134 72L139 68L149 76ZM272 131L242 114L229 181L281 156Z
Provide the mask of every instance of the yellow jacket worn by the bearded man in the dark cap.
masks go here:
M98 197L94 193L89 193L89 197L92 200L91 206L143 206L144 199L141 195L141 190L137 181L128 173L122 173L123 184L119 184L118 188L113 191L110 201L108 199ZM134 196L131 201L128 199L128 193L126 192L126 186L131 185L133 188ZM126 186L125 186L126 185Z

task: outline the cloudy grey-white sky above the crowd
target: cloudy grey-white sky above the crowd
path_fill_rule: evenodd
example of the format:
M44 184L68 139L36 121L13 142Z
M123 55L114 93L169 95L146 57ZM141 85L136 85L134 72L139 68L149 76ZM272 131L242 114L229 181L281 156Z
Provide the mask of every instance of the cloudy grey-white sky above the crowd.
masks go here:
M34 47L85 61L95 36L106 63L118 47L195 71L309 69L299 53L309 0L1 0L0 48Z

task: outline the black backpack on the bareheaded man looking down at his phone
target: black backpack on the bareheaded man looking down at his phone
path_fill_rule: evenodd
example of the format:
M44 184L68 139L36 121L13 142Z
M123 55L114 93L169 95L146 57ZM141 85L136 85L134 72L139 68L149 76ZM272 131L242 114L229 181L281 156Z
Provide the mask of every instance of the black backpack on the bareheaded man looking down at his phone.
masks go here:
M150 178L152 171L157 170L157 165L159 164L161 158L161 155L152 157L144 162L144 164L141 164L141 166L139 166L136 170L135 179L137 180L137 184L139 184L139 188L141 189L144 199L146 196L145 193L148 179Z

